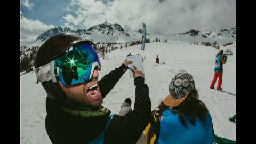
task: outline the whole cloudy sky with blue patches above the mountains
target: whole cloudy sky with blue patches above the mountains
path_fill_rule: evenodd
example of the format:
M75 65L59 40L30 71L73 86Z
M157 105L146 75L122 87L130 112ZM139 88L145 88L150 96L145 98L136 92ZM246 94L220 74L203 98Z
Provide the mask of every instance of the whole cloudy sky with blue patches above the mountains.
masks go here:
M21 0L20 45L54 27L88 29L104 23L148 34L236 27L236 0Z

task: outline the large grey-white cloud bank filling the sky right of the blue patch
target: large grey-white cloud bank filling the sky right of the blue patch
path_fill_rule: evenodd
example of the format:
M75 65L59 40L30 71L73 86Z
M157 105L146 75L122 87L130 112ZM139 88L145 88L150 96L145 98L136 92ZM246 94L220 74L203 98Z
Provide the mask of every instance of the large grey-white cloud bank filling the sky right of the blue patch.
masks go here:
M78 9L74 19L87 28L103 23L119 23L131 29L142 28L144 22L150 34L174 34L190 29L206 30L236 26L236 1L228 0L119 0L103 3L101 1L74 0Z

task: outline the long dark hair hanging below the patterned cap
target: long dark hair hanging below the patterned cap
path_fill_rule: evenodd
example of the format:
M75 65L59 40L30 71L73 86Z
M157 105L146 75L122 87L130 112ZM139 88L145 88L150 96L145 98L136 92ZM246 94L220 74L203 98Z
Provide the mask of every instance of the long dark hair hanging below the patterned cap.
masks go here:
M188 94L188 97L182 103L180 103L179 106L172 107L172 111L179 115L179 120L183 126L185 125L184 116L191 124L195 124L196 117L198 117L200 121L205 121L207 118L209 111L204 103L199 100L199 94L197 91L198 90L194 89ZM163 101L161 101L157 112L162 115L163 111L169 108L169 106L164 105Z

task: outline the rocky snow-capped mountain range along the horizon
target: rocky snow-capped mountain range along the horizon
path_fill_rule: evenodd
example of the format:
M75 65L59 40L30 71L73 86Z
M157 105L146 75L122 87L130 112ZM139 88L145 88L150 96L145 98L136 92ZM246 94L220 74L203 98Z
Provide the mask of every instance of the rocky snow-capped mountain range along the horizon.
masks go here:
M39 35L36 41L33 44L28 45L27 47L33 46L41 46L42 42L44 42L50 36L60 33L60 32L69 32L75 33L81 36L82 39L92 39L95 42L111 42L111 43L126 43L132 41L141 40L142 30L131 30L125 29L121 25L115 23L110 24L108 22L101 23L99 25L92 26L88 29L77 29L72 30L68 27L55 27L49 29ZM150 35L147 34L146 38L149 38L151 41L156 38L165 41L167 39L168 42L172 41L184 41L188 43L194 42L210 42L213 43L216 41L218 44L225 44L229 42L236 41L236 28L230 29L219 29L219 30L194 30L186 31L178 34L170 34L170 35Z

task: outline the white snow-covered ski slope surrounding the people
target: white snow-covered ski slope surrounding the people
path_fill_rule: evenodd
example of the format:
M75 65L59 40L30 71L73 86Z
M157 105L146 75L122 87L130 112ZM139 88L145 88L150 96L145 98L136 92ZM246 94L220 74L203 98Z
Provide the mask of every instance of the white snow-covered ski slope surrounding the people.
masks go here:
M160 39L160 38L159 38ZM214 132L219 137L236 140L236 123L230 122L229 117L236 115L236 42L232 45L220 46L222 50L227 48L233 51L223 65L223 91L210 89L214 76L215 54L219 51L210 46L194 45L182 41L168 41L167 43L146 43L145 51L141 51L141 45L130 46L107 53L105 59L100 58L102 70L99 71L99 79L108 74L114 68L119 67L131 53L143 54L146 60L143 63L145 69L145 83L149 87L149 96L152 110L168 94L168 85L172 77L180 72L187 71L193 75L196 88L199 90L199 98L209 109ZM158 55L160 62L156 64ZM115 58L114 58L115 57ZM20 76L20 143L51 143L45 130L45 98L46 92L41 84L36 85L34 71ZM215 84L217 87L217 83ZM111 114L117 114L126 97L132 99L132 107L135 100L135 86L129 71L122 76L113 90L103 100L103 106L111 110Z

